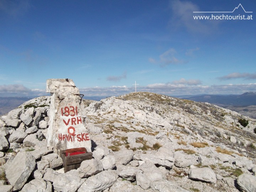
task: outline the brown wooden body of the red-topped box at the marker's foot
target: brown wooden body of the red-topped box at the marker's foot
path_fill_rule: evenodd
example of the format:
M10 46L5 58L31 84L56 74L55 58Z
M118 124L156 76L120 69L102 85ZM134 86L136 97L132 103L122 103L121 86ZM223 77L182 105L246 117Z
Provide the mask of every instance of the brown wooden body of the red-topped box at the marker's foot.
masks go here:
M66 150L62 150L61 158L63 160L64 170L65 172L68 172L72 169L78 169L82 161L92 159L92 153L87 152L72 156L66 156Z

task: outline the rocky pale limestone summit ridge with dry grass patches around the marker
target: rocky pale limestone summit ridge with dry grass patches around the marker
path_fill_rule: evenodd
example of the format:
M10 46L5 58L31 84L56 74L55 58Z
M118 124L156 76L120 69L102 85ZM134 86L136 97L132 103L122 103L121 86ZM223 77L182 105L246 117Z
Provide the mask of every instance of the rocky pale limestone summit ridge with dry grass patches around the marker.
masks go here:
M93 159L66 173L46 144L50 96L1 116L0 191L256 191L255 119L149 92L83 102Z

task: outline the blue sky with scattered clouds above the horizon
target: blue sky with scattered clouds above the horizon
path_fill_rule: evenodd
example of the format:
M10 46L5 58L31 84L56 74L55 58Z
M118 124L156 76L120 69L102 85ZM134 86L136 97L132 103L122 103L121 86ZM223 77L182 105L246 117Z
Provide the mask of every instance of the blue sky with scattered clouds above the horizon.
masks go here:
M256 91L255 13L249 0L1 0L0 96L45 95L57 78L85 96L135 81L171 96ZM212 14L251 19L194 19Z

